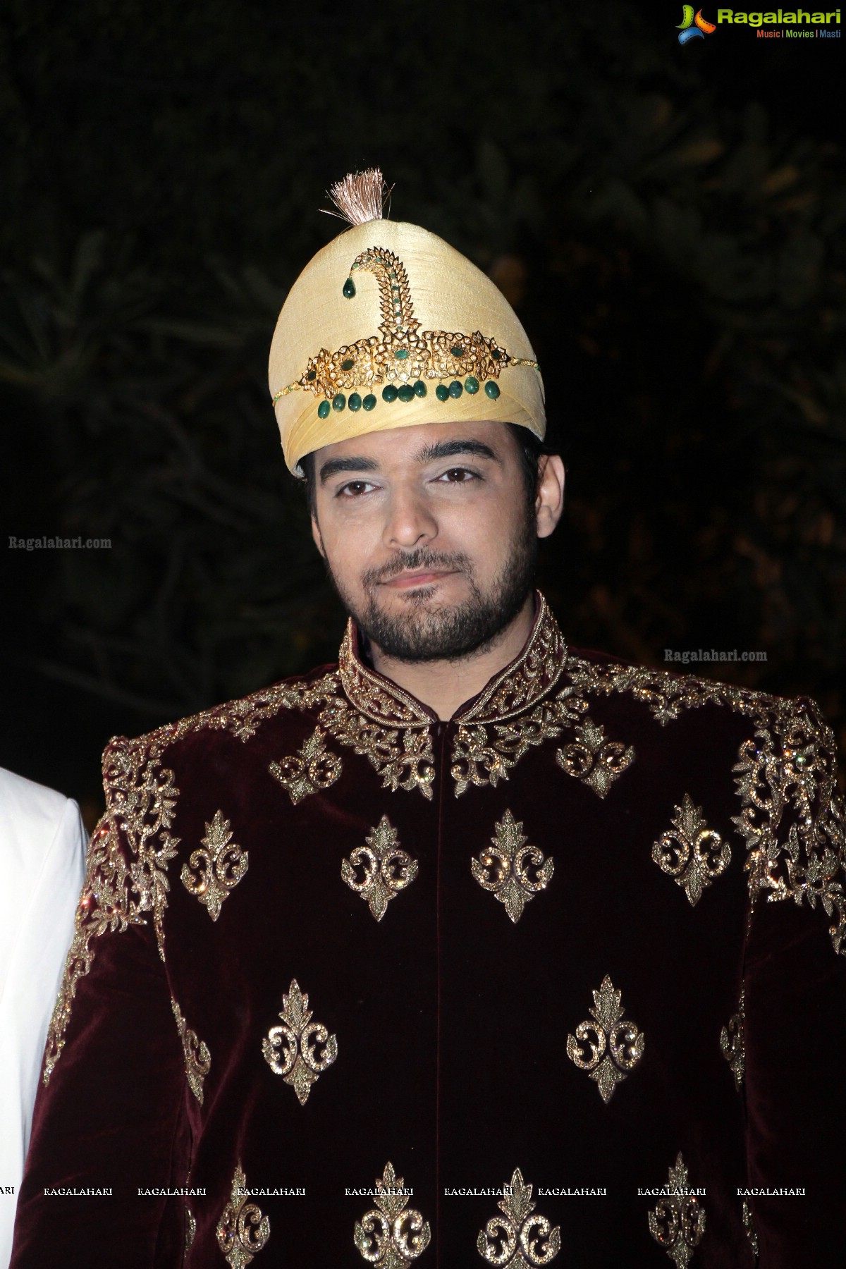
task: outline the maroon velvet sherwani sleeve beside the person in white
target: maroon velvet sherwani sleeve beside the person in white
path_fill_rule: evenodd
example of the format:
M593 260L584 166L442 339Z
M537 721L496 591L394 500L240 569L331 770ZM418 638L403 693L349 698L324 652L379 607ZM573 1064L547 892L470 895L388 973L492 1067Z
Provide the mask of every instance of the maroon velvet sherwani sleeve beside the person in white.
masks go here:
M113 742L107 760L119 758ZM132 793L107 782L107 796L47 1038L14 1269L171 1266L184 1245L181 1204L138 1194L185 1184L185 1070L141 820Z

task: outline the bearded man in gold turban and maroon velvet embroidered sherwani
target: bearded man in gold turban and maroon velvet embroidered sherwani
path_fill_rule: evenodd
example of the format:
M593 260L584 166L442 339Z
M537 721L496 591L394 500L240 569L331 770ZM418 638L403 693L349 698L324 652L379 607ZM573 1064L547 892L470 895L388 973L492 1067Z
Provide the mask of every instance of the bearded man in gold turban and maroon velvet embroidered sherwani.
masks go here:
M567 650L516 316L336 195L270 388L339 665L107 750L13 1264L841 1264L831 732Z

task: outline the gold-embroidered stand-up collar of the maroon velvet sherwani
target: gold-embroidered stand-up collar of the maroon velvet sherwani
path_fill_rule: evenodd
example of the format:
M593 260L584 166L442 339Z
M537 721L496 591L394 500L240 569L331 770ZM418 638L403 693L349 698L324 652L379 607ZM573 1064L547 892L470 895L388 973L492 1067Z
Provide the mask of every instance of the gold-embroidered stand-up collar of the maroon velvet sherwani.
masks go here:
M549 612L537 594L538 614L520 655L495 674L478 695L460 707L454 721L462 725L504 722L523 713L545 697L561 678L567 660L567 645ZM358 652L358 631L353 618L339 652L339 673L350 703L365 718L382 727L429 727L436 722L427 706L410 692L364 665Z

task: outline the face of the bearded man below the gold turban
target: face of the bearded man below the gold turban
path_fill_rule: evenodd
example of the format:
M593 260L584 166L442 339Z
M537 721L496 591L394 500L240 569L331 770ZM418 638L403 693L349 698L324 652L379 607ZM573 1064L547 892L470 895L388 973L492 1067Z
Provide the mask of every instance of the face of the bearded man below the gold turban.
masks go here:
M348 612L388 656L468 656L526 603L538 528L504 424L342 440L315 454L315 541Z

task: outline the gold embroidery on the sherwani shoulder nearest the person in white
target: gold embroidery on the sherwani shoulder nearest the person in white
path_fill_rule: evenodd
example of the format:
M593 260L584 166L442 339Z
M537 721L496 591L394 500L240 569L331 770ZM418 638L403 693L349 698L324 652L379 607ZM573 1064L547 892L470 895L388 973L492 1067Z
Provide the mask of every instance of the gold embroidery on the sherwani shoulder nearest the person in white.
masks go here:
M74 938L47 1030L44 1084L65 1047L77 983L94 962L94 939L107 931L145 925L142 914L152 912L159 954L165 959L167 864L179 845L179 838L169 830L179 789L174 773L161 768L160 753L126 740L113 741L107 750L103 774L108 811L88 849Z

